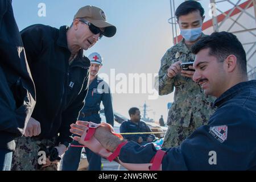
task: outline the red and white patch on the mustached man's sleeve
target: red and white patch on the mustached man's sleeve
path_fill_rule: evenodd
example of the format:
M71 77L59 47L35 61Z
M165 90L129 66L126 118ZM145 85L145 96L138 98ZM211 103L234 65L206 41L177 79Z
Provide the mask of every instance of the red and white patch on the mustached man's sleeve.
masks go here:
M223 143L228 138L228 126L212 126L209 133L219 142Z

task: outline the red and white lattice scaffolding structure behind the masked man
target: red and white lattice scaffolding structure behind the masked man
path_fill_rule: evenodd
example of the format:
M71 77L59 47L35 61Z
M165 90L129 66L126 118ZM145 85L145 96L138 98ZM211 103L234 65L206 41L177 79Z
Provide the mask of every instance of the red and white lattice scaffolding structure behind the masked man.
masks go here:
M241 2L242 0L204 1L209 1L209 8L212 13L212 26L210 27L212 30L210 32L232 32L240 39L246 51L249 79L256 79L256 0L245 2ZM175 2L177 3L176 0L170 0L171 18L168 19L172 28L172 41L174 44L179 42L180 36L179 25L176 23L175 17L177 6L177 4L175 6ZM218 7L221 7L221 3L228 3L232 8L224 12L218 9ZM209 30L207 31L207 33L210 32Z

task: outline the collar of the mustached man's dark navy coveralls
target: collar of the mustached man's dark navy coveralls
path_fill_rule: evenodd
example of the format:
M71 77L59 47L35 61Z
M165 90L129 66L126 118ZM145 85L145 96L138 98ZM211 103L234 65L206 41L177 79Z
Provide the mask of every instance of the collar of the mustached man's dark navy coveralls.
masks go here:
M256 89L256 80L240 82L239 84L232 86L232 88L226 90L226 92L216 99L214 106L219 107L220 105L223 105L226 101L229 101L238 93L249 87L254 87Z

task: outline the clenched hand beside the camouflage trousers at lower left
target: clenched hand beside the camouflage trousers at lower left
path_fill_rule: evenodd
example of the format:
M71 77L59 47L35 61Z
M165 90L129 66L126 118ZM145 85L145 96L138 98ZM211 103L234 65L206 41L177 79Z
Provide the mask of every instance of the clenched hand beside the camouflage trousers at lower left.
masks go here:
M40 123L36 121L36 119L31 117L30 120L28 120L24 136L33 137L33 136L39 135L40 133L41 133Z

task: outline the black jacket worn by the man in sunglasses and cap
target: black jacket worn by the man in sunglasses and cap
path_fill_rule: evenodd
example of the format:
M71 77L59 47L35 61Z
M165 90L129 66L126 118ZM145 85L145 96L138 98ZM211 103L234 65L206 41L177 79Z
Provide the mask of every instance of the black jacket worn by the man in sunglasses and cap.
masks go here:
M28 64L36 88L32 117L40 122L39 138L58 137L58 143L72 142L71 123L76 122L88 91L90 61L79 55L69 65L68 27L60 30L35 24L21 31Z

